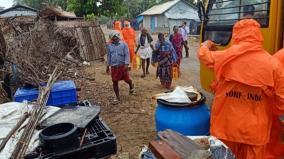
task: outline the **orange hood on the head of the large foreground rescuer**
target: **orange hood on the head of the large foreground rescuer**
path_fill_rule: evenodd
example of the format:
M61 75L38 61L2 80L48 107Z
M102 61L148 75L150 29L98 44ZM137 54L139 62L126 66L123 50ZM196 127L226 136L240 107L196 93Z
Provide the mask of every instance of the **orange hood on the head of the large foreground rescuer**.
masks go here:
M233 28L232 43L249 42L262 45L263 36L260 31L260 24L253 19L244 19L237 22Z

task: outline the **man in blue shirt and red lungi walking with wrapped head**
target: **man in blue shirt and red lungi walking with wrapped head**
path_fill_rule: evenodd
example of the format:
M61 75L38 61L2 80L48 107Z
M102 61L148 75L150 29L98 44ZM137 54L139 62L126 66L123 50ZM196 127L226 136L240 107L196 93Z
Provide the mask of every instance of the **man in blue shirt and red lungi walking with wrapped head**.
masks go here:
M129 49L126 43L120 40L120 34L113 31L110 34L111 42L107 45L107 74L111 73L115 102L120 101L118 82L124 80L129 85L129 93L134 93L134 84L129 76L130 63Z

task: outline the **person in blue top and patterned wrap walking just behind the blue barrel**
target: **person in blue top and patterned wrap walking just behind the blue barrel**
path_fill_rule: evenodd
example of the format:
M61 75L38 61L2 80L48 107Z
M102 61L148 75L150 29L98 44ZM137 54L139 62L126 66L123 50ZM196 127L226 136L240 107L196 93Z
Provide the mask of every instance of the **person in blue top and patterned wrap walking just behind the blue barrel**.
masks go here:
M152 64L158 63L156 76L159 77L164 88L170 89L173 78L172 65L176 62L176 53L172 44L165 40L163 33L159 33L158 38L152 56Z

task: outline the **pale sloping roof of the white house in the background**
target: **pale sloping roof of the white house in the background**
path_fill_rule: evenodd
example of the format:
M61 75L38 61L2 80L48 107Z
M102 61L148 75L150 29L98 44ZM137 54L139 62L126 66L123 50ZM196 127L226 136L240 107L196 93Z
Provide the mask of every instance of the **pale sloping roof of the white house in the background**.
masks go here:
M160 5L155 5L152 8L146 10L145 12L141 13L140 15L156 15L156 14L163 14L165 11L170 9L172 6L174 6L176 3L178 3L180 0L173 0L169 1Z

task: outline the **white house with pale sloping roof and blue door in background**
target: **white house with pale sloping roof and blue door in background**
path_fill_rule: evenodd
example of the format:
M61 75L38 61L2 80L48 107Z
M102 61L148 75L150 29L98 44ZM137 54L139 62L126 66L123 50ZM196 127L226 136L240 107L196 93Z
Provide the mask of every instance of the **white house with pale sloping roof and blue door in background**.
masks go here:
M155 5L140 16L143 16L143 27L151 32L172 32L175 25L180 26L186 21L194 33L200 22L197 7L184 0Z

